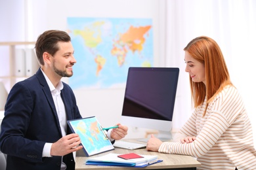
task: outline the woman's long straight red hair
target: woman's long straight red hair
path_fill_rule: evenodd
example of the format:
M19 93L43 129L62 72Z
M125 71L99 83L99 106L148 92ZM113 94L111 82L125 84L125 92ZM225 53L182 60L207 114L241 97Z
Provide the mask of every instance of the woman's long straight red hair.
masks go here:
M202 36L190 41L184 50L205 66L205 84L193 82L190 77L194 107L201 105L205 97L208 105L224 86L232 84L221 48L213 39Z

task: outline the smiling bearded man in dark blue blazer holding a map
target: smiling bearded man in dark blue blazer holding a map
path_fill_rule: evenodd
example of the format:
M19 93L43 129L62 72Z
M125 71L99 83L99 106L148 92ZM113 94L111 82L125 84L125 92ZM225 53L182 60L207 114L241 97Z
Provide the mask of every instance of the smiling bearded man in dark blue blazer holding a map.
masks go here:
M73 152L82 146L67 120L81 118L75 95L64 76L73 75L76 63L70 36L49 30L35 44L41 68L16 83L9 93L2 122L0 149L8 169L75 169ZM111 140L127 135L127 127L108 131Z

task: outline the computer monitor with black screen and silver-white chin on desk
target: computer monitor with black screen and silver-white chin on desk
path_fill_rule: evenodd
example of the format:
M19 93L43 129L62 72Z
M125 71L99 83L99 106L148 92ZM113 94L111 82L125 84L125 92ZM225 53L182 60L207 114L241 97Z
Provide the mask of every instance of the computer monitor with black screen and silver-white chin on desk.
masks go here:
M170 140L179 68L130 67L121 122L127 126L159 131Z

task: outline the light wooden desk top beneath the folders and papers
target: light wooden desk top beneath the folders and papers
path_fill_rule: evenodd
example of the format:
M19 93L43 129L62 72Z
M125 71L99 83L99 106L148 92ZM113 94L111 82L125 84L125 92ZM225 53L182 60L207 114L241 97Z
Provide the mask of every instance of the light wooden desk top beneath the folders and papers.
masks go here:
M163 154L159 152L148 152L146 148L141 148L137 150L126 150L122 148L115 148L115 150L111 150L108 152L104 152L102 154L98 154L95 156L90 156L90 158L103 156L104 154L116 153L116 154L127 154L134 152L136 154L144 154L144 155L157 155L158 159L163 160L160 163L156 163L154 165L150 165L144 168L135 168L135 167L110 167L110 166L95 166L95 165L85 165L87 160L83 150L79 150L76 154L75 158L75 169L95 169L95 170L105 170L105 169L196 169L196 167L200 167L201 163L197 161L192 156L184 156L177 154Z

